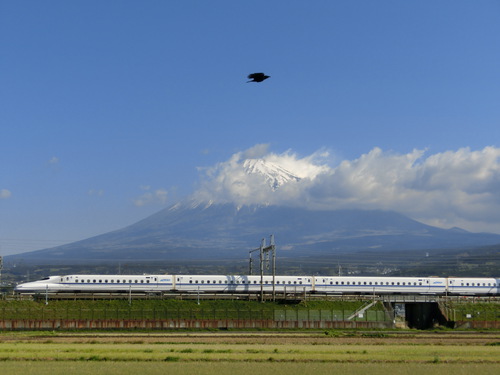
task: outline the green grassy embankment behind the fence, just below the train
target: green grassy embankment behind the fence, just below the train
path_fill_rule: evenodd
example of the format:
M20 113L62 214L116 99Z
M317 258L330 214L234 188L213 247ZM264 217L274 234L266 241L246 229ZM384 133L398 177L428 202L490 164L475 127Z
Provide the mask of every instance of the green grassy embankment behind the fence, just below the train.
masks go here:
M307 301L298 304L260 303L256 301L206 300L0 300L0 319L274 319L274 320L344 320L371 300ZM500 319L498 303L448 304L452 320ZM392 320L381 303L368 309L363 321ZM359 320L357 317L354 320Z

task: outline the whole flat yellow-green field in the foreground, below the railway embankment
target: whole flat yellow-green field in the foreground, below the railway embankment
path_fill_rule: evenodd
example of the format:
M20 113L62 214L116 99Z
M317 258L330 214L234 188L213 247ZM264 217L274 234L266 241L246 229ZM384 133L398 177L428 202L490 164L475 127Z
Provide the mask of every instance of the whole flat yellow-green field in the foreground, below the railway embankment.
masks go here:
M499 333L0 334L2 374L482 374Z

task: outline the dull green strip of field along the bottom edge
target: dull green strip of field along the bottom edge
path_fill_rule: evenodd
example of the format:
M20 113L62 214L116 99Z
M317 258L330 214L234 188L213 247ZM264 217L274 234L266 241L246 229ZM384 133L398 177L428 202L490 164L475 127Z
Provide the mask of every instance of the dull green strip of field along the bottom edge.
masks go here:
M491 364L426 364L426 363L254 363L254 362L195 362L195 363L123 363L123 362L45 362L2 363L3 374L59 375L59 374L199 374L199 375L497 375L500 367Z

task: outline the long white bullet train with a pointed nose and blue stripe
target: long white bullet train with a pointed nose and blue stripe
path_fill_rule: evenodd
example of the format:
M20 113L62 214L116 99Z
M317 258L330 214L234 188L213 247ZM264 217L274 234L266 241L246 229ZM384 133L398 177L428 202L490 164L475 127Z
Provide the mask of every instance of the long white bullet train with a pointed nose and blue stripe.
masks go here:
M274 285L274 288L273 288ZM250 275L65 275L22 283L42 293L325 293L498 296L500 279L481 277L357 277Z

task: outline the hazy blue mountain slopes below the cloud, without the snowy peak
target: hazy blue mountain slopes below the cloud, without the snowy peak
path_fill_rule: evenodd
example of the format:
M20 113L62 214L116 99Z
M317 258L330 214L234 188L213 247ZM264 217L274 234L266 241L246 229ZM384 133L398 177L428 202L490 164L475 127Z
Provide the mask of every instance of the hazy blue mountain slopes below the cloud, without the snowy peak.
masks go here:
M245 259L270 234L280 257L500 244L500 235L439 229L391 211L186 201L117 231L6 258L45 263Z

